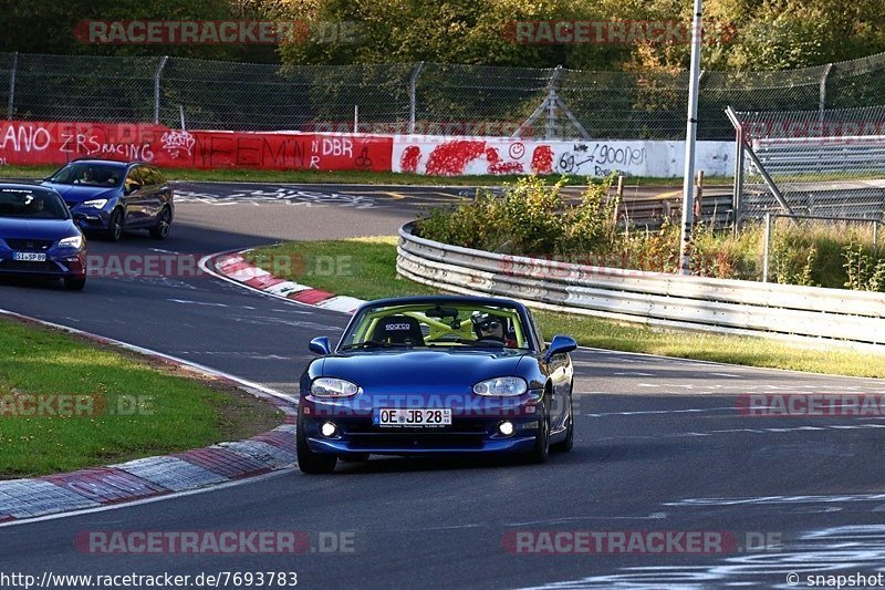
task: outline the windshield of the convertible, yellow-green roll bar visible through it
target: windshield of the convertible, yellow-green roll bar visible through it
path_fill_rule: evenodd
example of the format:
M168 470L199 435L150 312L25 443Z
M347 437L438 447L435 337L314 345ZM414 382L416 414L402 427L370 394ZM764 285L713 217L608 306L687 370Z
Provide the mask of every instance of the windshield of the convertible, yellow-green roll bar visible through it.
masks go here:
M428 300L364 308L340 349L414 346L528 350L531 342L517 308Z

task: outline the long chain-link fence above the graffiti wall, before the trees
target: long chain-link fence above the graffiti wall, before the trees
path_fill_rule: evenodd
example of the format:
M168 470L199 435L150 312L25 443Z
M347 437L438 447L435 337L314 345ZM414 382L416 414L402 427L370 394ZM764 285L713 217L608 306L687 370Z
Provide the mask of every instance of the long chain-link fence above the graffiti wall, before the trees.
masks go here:
M0 54L8 118L232 131L680 139L688 75L438 63L278 66L181 58ZM705 72L698 137L739 111L885 101L885 54L781 72Z

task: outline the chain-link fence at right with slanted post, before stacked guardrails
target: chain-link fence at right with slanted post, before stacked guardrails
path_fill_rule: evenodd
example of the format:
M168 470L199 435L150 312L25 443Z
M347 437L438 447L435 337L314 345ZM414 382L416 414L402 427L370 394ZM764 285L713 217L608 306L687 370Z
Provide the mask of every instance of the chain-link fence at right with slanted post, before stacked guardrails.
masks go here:
M885 106L731 113L741 218L766 213L882 219Z

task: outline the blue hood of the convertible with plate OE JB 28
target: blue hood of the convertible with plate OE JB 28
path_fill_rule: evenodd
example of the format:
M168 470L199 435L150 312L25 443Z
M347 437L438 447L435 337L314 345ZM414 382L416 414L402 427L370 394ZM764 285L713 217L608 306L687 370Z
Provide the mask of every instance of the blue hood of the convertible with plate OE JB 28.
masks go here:
M326 356L323 376L366 393L464 393L487 379L513 375L525 351L361 351Z

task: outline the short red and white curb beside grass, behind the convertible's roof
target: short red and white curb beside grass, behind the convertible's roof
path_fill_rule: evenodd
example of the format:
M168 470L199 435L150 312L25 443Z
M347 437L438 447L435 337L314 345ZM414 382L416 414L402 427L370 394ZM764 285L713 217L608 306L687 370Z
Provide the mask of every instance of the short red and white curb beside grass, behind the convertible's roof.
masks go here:
M200 268L219 279L227 280L267 293L279 299L298 301L305 306L353 313L365 303L363 299L336 296L322 289L314 289L290 280L274 277L267 270L248 262L243 255L249 250L207 256L200 260Z

